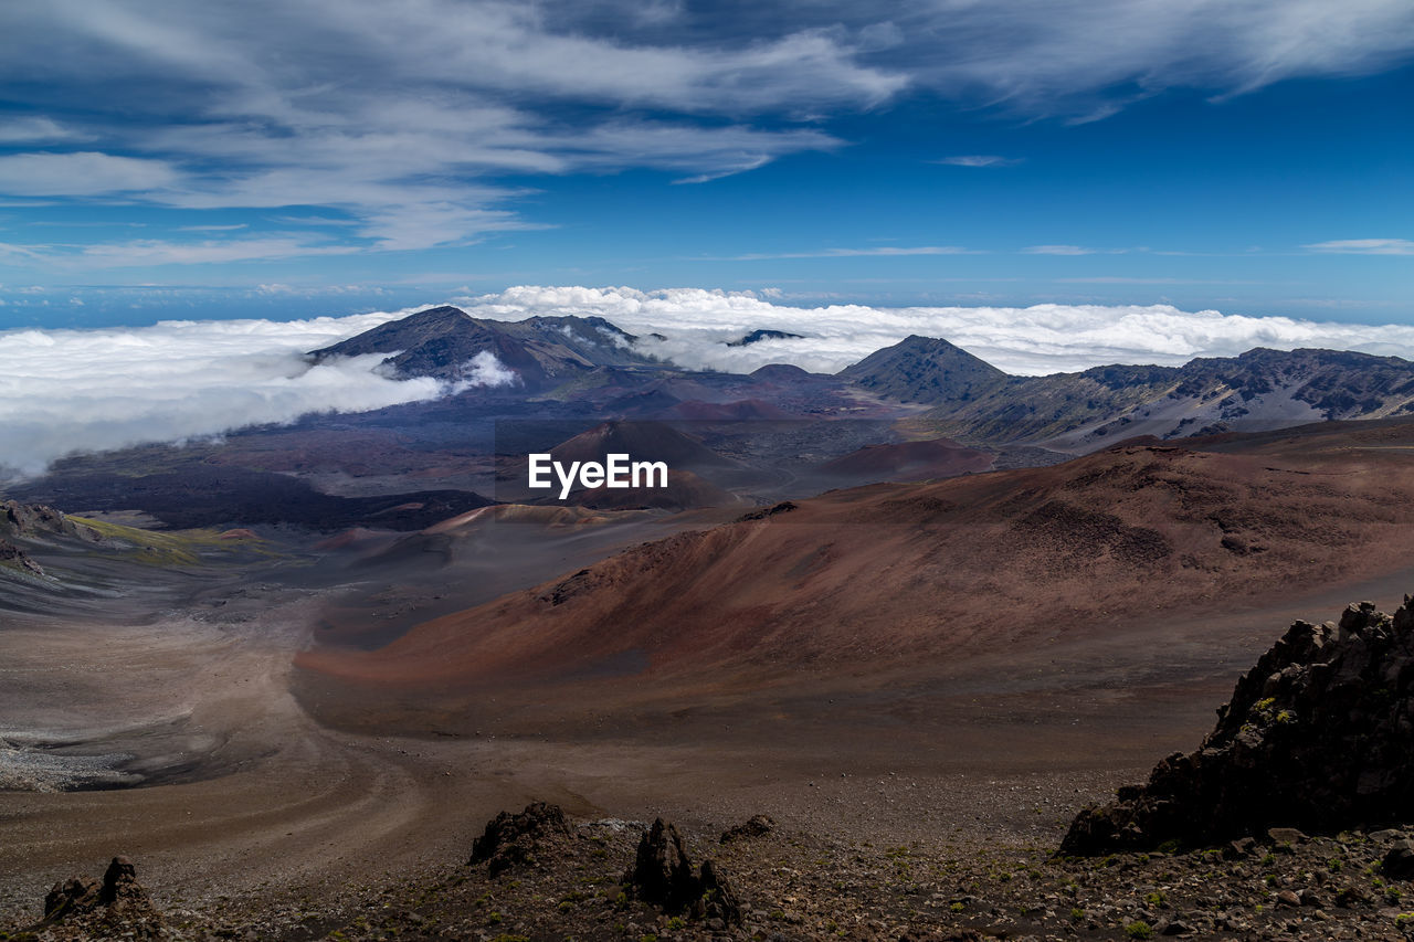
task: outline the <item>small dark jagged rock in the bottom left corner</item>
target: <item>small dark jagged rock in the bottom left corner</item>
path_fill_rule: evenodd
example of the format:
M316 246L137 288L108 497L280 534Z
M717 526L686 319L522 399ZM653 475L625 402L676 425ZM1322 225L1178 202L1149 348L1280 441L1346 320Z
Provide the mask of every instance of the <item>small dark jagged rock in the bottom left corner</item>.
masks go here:
M71 877L54 884L44 897L44 921L35 928L54 929L55 938L161 939L165 935L161 914L137 881L137 868L127 857L113 857L102 880Z

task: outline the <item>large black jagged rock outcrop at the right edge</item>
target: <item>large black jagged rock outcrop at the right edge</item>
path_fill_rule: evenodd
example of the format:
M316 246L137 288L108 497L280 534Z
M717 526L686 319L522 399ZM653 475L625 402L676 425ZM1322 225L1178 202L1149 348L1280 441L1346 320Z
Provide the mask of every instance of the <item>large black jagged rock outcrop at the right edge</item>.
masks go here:
M1414 801L1414 604L1298 621L1249 670L1202 747L1082 810L1062 854L1203 846L1274 825L1404 820Z

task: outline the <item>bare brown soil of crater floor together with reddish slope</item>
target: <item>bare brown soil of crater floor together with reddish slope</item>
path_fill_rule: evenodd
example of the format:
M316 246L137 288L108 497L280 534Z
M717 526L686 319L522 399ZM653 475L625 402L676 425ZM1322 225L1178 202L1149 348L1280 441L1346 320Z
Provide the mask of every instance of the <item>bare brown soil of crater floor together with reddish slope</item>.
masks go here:
M447 894L445 909L427 895L464 876L486 819L532 799L580 819L667 815L697 853L723 827L771 815L778 843L724 853L764 938L820 938L841 914L881 938L953 925L1063 935L1069 907L1051 897L1068 880L1089 894L1075 904L1082 936L1120 938L1144 918L1150 904L1124 884L1164 887L1192 918L1202 900L1182 881L1196 878L1229 883L1225 912L1243 908L1251 915L1233 925L1254 925L1256 905L1275 905L1261 894L1278 887L1264 890L1267 871L1250 861L1226 873L1195 857L1169 877L1164 861L1135 859L1106 881L1097 864L1048 870L1044 856L1080 806L1192 748L1292 618L1353 598L1393 607L1414 587L1407 444L1127 448L839 492L568 563L539 588L427 621L383 649L321 646L297 666L334 600L288 587L136 625L120 624L133 615L123 601L112 620L11 620L0 738L21 730L130 754L147 786L0 792L0 926L35 921L57 880L102 873L122 853L195 938L434 935L389 922L407 912L437 919L444 938L551 938L563 876L543 890L537 876L519 887L472 876L464 885L477 895ZM451 539L455 556L491 516L417 536ZM901 844L926 877L887 880ZM600 863L570 871L591 881L571 902L588 911L626 851L585 853L571 867ZM1297 890L1316 868L1299 860L1277 874ZM1359 873L1365 857L1350 866ZM981 890L957 888L970 883ZM477 902L488 892L498 922ZM1052 915L1027 922L1022 905ZM1393 931L1384 905L1360 911L1362 931ZM625 938L595 935L598 917L566 925ZM632 922L635 939L676 932L650 918L604 925ZM1322 938L1292 918L1261 931Z

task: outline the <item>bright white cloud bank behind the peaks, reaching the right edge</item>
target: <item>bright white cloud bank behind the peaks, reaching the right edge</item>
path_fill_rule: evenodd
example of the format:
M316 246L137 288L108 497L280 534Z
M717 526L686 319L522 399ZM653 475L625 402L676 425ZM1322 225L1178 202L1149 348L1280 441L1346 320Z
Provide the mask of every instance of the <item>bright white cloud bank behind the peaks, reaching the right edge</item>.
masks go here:
M789 307L754 293L628 287L515 287L461 298L474 317L520 320L537 314L604 317L645 351L690 368L749 372L795 364L836 372L909 334L942 337L1011 373L1039 375L1106 364L1181 365L1195 356L1234 356L1253 347L1329 347L1414 358L1414 327L1243 317L1182 311L1168 304L1034 307L904 307L860 304ZM802 334L727 347L756 328Z

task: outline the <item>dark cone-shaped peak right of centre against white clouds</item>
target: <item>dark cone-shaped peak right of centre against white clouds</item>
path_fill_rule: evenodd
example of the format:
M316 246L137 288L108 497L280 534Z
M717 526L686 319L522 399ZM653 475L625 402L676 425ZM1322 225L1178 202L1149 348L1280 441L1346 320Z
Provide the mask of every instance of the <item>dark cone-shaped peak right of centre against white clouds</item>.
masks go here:
M933 337L908 337L837 373L899 402L970 402L1004 386L1007 373L960 347Z

